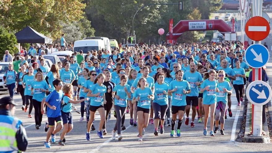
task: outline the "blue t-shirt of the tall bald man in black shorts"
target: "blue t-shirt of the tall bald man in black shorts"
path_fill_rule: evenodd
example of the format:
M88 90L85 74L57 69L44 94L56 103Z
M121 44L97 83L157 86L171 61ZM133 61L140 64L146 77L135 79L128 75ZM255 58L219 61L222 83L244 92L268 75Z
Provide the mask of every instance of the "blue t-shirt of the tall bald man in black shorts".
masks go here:
M198 86L196 86L195 83L203 81L201 74L197 71L195 71L194 73L188 71L183 74L182 79L188 81L191 87L191 93L187 94L186 96L198 96Z

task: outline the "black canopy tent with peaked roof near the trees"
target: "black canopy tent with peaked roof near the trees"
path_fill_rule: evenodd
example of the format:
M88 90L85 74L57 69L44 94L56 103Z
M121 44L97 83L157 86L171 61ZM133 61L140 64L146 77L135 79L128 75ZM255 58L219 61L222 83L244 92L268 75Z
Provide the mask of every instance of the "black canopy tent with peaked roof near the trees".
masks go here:
M52 39L36 32L34 29L26 26L21 31L16 32L15 36L18 43L45 43L52 44Z

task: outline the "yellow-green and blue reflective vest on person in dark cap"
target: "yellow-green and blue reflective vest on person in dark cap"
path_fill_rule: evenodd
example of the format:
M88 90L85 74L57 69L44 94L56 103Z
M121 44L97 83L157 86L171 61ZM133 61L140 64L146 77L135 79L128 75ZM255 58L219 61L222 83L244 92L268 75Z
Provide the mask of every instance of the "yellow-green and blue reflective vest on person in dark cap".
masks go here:
M0 151L18 152L16 133L22 121L8 116L0 115Z

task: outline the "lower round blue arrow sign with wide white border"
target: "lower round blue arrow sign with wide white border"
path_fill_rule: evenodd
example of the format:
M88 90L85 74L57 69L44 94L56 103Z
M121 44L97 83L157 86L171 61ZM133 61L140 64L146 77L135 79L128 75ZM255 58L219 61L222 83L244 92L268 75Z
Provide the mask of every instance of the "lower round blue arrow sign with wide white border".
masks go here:
M262 106L271 99L271 87L264 81L253 81L247 87L246 96L252 104Z

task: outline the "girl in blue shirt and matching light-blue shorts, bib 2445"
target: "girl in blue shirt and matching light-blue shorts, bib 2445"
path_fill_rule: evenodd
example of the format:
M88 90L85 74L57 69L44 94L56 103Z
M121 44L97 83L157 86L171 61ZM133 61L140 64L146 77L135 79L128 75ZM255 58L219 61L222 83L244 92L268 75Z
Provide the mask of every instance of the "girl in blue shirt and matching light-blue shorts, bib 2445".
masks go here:
M210 136L215 136L213 132L214 127L214 114L215 114L215 104L216 104L216 93L219 92L218 89L218 81L215 80L215 70L210 70L209 78L204 80L203 83L200 85L201 91L203 92L203 106L205 111L204 117L204 130L203 134L207 135L207 123L208 118L210 115Z

